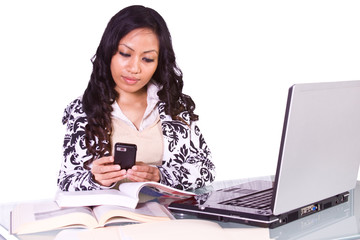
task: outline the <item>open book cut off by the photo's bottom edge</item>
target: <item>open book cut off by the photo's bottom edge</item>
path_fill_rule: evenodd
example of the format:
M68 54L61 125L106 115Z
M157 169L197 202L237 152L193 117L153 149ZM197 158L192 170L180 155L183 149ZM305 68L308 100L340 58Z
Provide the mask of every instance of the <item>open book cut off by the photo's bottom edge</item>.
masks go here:
M187 234L189 233L189 234ZM185 236L186 235L186 236ZM82 231L65 230L59 233L57 240L270 240L268 228L233 225L225 227L214 221L200 219L179 219L166 222L131 224L118 227L83 229Z

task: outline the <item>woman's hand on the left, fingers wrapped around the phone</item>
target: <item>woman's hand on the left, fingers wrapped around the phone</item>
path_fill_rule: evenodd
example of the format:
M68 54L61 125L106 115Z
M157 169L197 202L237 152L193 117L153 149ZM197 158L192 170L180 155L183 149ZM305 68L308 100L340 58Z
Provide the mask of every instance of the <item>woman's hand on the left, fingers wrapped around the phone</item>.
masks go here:
M114 164L113 156L96 159L92 164L91 173L94 180L105 187L126 178L126 170L121 170L120 165Z

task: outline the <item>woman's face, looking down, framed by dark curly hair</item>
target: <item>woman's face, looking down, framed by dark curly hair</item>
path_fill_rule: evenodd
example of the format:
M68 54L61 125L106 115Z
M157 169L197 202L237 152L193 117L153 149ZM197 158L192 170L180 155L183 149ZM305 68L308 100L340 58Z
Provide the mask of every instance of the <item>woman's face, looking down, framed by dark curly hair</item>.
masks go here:
M157 68L158 56L159 40L152 30L139 28L125 35L110 63L115 90L121 94L143 89Z

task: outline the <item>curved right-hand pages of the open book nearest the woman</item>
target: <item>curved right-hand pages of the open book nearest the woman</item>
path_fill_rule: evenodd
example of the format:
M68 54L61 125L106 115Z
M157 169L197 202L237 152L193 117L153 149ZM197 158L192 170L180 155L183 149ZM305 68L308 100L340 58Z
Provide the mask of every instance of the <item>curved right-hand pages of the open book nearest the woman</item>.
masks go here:
M163 197L186 198L196 195L193 192L178 190L157 182L125 182L120 184L119 190L121 192L126 192L129 196L133 198L138 199L139 192L144 187L149 188L147 189L147 191L152 191L154 193L157 193L157 196Z

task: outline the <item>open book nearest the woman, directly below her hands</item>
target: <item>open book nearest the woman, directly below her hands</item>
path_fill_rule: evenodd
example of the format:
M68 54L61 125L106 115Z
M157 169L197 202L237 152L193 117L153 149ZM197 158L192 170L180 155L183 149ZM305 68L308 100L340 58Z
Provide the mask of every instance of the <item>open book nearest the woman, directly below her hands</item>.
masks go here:
M59 191L56 194L55 201L60 207L117 205L136 208L140 191L156 197L187 198L196 195L157 182L126 182L119 185L119 190Z

